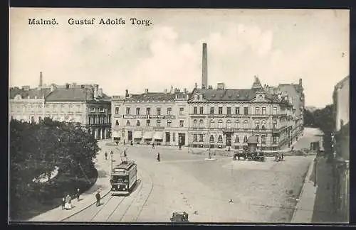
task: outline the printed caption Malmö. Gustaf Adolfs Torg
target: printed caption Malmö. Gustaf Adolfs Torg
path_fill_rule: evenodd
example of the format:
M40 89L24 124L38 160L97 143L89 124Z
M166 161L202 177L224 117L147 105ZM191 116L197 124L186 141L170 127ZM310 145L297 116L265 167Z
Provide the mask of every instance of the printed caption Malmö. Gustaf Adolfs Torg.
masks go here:
M69 25L133 25L133 26L151 26L152 20L141 18L69 18ZM58 25L56 18L28 18L28 25Z

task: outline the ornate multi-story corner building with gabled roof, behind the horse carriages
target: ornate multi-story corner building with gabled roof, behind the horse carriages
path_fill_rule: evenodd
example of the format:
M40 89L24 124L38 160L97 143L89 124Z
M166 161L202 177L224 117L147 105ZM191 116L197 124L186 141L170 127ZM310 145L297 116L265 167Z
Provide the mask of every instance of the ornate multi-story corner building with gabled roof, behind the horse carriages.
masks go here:
M197 87L189 104L189 146L235 149L258 137L263 150L290 145L292 105L288 95L270 94L258 77L251 89Z

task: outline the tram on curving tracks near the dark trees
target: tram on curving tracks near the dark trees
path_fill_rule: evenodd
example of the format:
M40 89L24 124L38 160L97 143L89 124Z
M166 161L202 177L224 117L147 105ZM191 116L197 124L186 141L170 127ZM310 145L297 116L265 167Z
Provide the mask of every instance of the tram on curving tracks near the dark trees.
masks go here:
M112 169L110 178L112 195L130 195L137 182L137 165L135 161L122 161Z

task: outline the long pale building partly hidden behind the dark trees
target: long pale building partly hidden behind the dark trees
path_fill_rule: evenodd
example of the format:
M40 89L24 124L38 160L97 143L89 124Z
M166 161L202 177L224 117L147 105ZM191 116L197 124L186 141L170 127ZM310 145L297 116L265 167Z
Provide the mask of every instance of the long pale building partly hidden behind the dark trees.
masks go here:
M10 88L10 116L20 121L39 122L45 117L81 124L98 139L110 137L110 97L98 84L40 84Z

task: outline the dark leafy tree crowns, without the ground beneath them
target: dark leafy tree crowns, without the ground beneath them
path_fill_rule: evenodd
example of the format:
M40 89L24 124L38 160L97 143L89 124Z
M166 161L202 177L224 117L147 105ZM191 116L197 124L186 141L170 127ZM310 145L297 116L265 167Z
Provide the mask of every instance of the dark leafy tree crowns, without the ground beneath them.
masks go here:
M81 126L44 119L41 124L12 120L10 123L11 200L41 196L34 177L46 175L57 167L73 177L85 178L93 170L98 143ZM49 180L51 183L51 180Z

